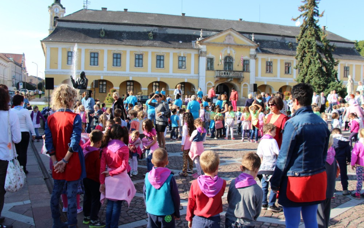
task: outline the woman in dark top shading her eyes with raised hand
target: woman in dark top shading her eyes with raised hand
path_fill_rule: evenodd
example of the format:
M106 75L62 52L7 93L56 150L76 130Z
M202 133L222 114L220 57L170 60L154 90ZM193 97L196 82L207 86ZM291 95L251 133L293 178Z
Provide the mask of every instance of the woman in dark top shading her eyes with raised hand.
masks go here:
M165 128L168 124L168 118L170 117L169 106L166 102L163 102L162 97L164 95L154 94L149 99L148 105L153 106L155 110L155 130L157 131L157 139L159 147L165 149ZM157 102L152 102L155 99Z

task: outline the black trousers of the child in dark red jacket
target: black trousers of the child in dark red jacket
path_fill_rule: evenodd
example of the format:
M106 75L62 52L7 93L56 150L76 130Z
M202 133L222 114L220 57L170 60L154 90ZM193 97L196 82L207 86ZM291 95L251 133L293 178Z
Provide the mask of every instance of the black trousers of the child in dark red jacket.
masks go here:
M99 219L100 203L100 183L93 179L83 179L84 196L83 196L83 216L91 216L92 221Z

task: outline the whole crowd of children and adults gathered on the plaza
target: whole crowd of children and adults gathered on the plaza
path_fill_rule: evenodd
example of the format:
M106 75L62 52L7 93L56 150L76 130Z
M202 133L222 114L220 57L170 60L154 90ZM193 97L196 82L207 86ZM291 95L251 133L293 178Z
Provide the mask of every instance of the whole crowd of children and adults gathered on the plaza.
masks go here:
M143 189L147 227L175 227L175 220L181 217L180 195L174 174L166 167L168 131L170 140L181 141L183 168L179 175L196 179L187 203L186 226L190 228L220 227L223 212L226 180L218 177L218 153L204 150L207 137L236 140L237 134L243 142L259 143L256 153L242 156L242 173L230 183L227 228L254 227L261 210L283 211L288 228L297 228L301 215L306 227L328 227L338 174L343 195L364 197L362 91L358 97L346 98L332 91L326 98L323 93L316 95L311 85L299 83L288 99L279 92L249 94L242 107L237 106L235 89L229 100L222 94L214 103L214 86L207 96L199 89L184 100L181 85L174 90L174 100L165 95L165 88L157 89L149 94L145 105L137 102L132 91L123 98L115 92L111 107L95 101L92 95L87 90L77 100L74 88L60 85L52 93L52 111L46 120L38 107L34 106L32 113L25 109L25 98L20 95L14 96L14 108L9 109L8 89L0 85L0 121L12 135L11 139L0 138L0 184L4 185L7 163L14 158L8 153L9 141L15 143L17 159L28 173L29 140L44 139L54 180L50 199L54 228L75 228L81 212L83 224L90 228L116 228L122 201L130 204L136 193L130 177L138 175L138 161L144 158L148 171ZM46 122L43 136L37 131L40 119ZM342 127L350 130L348 139L343 137ZM353 192L348 190L348 164L358 179ZM0 190L1 211L5 191ZM67 223L60 219L60 198ZM105 199L103 222L98 214Z

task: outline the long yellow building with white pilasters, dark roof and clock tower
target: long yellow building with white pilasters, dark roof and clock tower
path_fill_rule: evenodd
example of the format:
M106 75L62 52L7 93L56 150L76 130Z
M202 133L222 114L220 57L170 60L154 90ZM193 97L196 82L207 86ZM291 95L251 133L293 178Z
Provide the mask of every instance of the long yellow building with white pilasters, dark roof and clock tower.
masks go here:
M57 10L55 10L57 8ZM198 88L207 94L230 95L241 102L253 92L290 91L296 84L298 27L242 20L83 9L64 16L60 0L49 7L50 35L42 40L46 77L55 86L85 71L88 87L98 81L96 98L110 88L120 94L149 95L156 88L173 95L182 84L184 95ZM336 45L338 77L363 81L364 58L354 42L326 31ZM317 91L320 92L320 91Z

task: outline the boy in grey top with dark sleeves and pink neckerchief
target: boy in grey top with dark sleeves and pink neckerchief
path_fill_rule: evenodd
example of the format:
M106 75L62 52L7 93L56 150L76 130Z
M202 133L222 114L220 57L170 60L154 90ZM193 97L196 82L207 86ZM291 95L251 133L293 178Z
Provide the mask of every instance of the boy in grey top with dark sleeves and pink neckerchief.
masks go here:
M229 207L225 214L225 227L253 228L262 210L263 190L255 181L261 160L254 152L243 155L240 169L243 172L230 183Z

